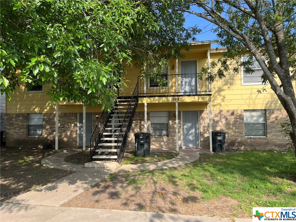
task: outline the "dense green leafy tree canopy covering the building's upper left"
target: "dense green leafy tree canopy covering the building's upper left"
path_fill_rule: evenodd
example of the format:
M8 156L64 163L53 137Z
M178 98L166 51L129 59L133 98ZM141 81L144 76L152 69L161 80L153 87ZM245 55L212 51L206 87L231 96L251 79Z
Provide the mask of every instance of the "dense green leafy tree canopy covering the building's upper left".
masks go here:
M0 89L8 98L19 84L51 84L51 102L110 110L125 64L143 68L182 56L191 38L183 14L164 10L161 1L0 2Z

